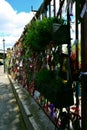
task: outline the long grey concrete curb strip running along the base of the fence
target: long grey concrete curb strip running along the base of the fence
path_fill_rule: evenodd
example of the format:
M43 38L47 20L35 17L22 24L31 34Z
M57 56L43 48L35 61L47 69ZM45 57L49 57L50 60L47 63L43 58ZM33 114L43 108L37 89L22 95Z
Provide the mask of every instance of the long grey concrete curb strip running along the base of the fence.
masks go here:
M10 75L8 75L8 78L27 130L58 130L27 90L15 82Z

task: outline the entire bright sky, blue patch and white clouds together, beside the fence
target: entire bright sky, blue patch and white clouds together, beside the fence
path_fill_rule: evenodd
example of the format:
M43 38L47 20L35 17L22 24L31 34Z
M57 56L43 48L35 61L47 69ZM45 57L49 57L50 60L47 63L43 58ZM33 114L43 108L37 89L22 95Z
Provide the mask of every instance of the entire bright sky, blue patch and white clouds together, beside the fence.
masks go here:
M31 11L38 10L43 0L0 0L0 51L12 48L20 38L25 25L34 16Z

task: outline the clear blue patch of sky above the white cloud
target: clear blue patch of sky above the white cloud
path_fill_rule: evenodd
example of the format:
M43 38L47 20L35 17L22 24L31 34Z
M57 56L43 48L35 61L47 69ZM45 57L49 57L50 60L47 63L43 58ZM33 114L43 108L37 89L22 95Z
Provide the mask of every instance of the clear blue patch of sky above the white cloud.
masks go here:
M31 6L38 10L43 0L6 0L17 12L30 12Z

